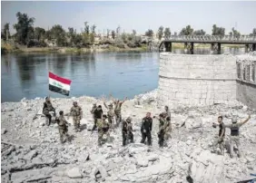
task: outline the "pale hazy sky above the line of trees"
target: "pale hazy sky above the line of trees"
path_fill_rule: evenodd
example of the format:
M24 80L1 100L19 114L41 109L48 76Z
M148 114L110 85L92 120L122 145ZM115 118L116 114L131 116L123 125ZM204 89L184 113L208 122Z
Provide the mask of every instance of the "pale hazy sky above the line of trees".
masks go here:
M5 23L16 22L17 12L35 18L34 26L44 29L54 24L69 26L80 32L84 22L95 24L96 31L103 29L143 34L151 28L156 31L160 25L170 27L179 33L182 27L191 24L193 29L203 29L212 34L212 24L223 26L226 33L237 26L241 34L250 34L256 27L256 2L6 2L1 1L1 28Z

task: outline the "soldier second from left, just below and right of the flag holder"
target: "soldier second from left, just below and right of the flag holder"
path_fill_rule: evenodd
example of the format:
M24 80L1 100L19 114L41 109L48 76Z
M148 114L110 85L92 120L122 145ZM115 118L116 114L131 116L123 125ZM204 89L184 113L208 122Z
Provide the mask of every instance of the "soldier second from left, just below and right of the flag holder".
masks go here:
M59 126L61 143L64 143L65 140L69 139L69 135L67 134L67 131L68 131L67 125L69 125L69 124L64 119L64 111L60 111L59 114L60 114L60 116L58 118L56 118L55 120ZM65 137L65 140L64 140L64 137Z

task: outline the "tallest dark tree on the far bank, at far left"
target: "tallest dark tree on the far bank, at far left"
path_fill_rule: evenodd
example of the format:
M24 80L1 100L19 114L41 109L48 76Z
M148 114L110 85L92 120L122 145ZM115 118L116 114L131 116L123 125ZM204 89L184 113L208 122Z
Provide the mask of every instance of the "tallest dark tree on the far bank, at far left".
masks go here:
M29 18L27 14L21 14L20 12L16 14L16 17L18 19L17 24L14 24L16 41L18 43L26 44L32 34L34 18Z

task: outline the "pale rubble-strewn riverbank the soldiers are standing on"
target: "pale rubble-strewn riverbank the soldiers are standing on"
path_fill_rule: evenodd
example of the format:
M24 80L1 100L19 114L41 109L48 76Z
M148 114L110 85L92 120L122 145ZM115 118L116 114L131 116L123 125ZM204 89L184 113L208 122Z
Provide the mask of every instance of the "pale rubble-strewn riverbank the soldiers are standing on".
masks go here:
M190 175L194 182L229 183L249 178L256 171L256 113L237 101L233 106L176 106L167 147L158 148L159 122L154 119L153 146L141 144L140 125L145 113L158 115L163 110L157 106L156 94L155 90L123 103L123 119L132 117L135 141L124 148L120 129L111 131L111 142L101 148L97 146L97 132L91 134L94 122L90 110L94 102L103 106L101 99L52 99L57 113L67 113L73 101L84 111L81 132L74 132L72 118L68 119L72 142L64 145L59 142L57 124L44 124L44 99L1 103L2 182L186 182ZM224 156L211 153L212 137L218 134L212 121L220 112L225 123L231 122L231 114L244 120L252 112L251 120L241 128L241 159L230 159L226 150ZM228 134L226 131L226 145Z

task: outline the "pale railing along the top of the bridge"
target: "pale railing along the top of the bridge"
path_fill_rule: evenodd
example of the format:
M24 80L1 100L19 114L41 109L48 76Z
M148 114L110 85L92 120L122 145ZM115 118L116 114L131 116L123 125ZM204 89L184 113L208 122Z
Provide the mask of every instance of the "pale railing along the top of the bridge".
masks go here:
M256 42L255 35L171 35L169 39L165 41L233 41L233 42Z

